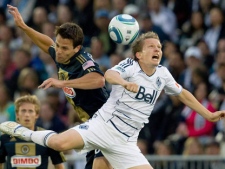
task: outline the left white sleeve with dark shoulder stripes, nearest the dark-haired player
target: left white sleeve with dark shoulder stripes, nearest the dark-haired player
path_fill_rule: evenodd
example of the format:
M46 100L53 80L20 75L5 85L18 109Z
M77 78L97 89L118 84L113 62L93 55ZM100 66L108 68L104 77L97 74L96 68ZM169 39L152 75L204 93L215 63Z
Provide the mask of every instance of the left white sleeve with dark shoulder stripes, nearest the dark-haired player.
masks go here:
M120 73L123 79L126 79L133 75L133 72L135 70L134 62L135 61L133 59L127 58L121 61L118 65L112 67L111 70L117 71L118 73Z

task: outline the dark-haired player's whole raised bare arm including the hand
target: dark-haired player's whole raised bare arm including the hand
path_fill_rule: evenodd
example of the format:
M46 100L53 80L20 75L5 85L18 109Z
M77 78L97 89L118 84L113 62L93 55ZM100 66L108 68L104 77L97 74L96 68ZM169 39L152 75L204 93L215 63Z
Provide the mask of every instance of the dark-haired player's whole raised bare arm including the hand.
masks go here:
M19 13L17 7L14 7L12 5L7 5L7 7L8 7L9 13L14 18L15 24L21 30L23 30L23 32L25 32L39 48L41 48L44 52L48 53L48 49L51 45L54 44L54 41L50 37L44 34L41 34L35 31L34 29L32 29L31 27L27 26L24 23L23 18L21 14Z

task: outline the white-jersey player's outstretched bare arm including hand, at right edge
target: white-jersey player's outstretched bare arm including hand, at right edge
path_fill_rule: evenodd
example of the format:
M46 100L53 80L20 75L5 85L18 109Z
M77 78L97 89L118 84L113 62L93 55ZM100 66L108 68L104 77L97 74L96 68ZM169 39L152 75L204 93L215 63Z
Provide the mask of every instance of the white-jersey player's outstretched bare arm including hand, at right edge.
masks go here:
M183 89L178 95L178 99L211 122L216 122L225 116L225 111L216 111L212 113L207 110L189 91L185 89Z

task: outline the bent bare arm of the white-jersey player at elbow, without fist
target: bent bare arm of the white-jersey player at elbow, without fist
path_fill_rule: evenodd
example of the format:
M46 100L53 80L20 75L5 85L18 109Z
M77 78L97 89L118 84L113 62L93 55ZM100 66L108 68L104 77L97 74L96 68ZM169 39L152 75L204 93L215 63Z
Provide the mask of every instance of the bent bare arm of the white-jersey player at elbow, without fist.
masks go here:
M113 70L107 70L105 72L105 79L108 83L114 85L123 85L126 82L118 72Z

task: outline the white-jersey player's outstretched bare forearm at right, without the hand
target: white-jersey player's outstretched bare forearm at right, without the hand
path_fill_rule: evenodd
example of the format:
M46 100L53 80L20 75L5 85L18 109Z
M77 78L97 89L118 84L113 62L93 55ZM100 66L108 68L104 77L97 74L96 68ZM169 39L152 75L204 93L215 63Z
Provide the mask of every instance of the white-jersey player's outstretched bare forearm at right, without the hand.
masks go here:
M183 89L182 93L178 96L179 100L185 105L195 110L207 120L211 119L212 113L207 110L199 101L187 90Z

